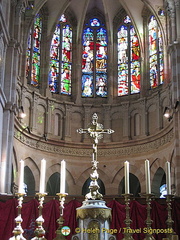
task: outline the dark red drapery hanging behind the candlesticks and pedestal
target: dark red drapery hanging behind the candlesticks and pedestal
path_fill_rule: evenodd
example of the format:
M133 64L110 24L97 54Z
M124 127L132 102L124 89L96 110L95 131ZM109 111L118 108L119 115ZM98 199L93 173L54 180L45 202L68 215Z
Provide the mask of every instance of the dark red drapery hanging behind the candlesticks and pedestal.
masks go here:
M72 200L65 204L64 208L64 225L69 226L71 234L66 237L71 239L72 234L75 234L75 229L78 226L76 220L76 208L80 207L81 203L77 200ZM123 232L125 231L125 205L116 200L112 200L107 204L112 209L112 221L110 228L117 229L116 238L121 240ZM151 219L153 220L152 229L167 229L167 205L160 204L157 201L151 203ZM22 228L24 230L24 237L31 239L34 236L36 225L36 218L38 217L38 201L33 199L27 203L23 203L22 207ZM15 226L14 219L17 216L17 199L9 199L6 202L0 202L0 239L8 240L13 236L13 229ZM132 220L131 228L137 232L133 234L135 240L144 238L144 231L146 231L146 205L140 204L133 200L130 203L130 217ZM59 218L59 201L50 200L44 204L43 207L44 229L46 231L47 240L53 240L56 236L56 229L58 227L56 220ZM172 218L174 220L173 229L180 237L180 202L174 200L172 202ZM162 230L163 232L163 230ZM155 239L161 240L165 237L165 233L154 235Z

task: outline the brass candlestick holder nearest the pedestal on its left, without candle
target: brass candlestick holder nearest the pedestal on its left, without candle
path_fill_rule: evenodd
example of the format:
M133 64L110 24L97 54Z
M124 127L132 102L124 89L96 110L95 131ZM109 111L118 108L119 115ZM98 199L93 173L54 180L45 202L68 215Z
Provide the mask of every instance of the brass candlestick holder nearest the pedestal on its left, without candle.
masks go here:
M59 227L56 230L56 237L54 238L54 240L66 240L66 238L64 237L64 235L61 232L61 228L62 228L63 223L64 223L64 218L63 218L64 202L65 202L65 198L68 194L67 193L57 193L56 195L59 197L60 216L57 219L57 223L58 223Z

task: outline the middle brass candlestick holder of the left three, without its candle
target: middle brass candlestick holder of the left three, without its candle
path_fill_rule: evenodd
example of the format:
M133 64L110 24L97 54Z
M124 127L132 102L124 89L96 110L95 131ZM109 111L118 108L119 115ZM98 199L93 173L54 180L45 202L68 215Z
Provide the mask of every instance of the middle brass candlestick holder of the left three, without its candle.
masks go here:
M35 237L32 238L32 240L46 240L45 238L45 230L43 228L43 223L44 223L44 219L42 217L42 209L43 209L43 202L44 202L44 197L47 195L47 193L36 193L36 195L38 196L38 200L39 200L39 217L36 219L36 229L34 231L35 233Z

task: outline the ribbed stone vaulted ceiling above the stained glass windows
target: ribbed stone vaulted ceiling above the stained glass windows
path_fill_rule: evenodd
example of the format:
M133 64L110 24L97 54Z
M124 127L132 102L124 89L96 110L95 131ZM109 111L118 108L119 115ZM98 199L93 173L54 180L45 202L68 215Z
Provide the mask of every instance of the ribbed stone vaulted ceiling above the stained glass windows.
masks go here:
M81 38L82 28L87 14L93 14L94 9L100 12L106 21L107 30L112 33L113 20L121 9L131 17L138 35L142 41L143 18L142 11L147 7L153 14L163 8L163 0L35 0L34 12L46 5L48 12L48 35L51 37L55 23L65 11L71 12L77 22L77 39ZM113 33L112 33L113 36ZM142 41L143 42L143 41ZM141 42L141 43L142 43Z

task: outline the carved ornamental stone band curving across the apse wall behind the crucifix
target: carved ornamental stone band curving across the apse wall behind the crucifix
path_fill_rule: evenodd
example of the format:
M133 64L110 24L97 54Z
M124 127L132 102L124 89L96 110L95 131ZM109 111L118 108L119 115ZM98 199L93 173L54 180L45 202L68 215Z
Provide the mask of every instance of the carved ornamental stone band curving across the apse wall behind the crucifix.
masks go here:
M39 149L45 152L51 152L51 153L57 153L57 154L62 154L62 155L68 155L68 156L91 156L92 150L89 148L83 148L82 147L78 148L77 146L72 148L72 147L61 147L57 145L53 145L53 143L45 143L39 140L35 140L30 138L29 136L25 136L24 132L19 131L15 129L14 132L14 137L22 142L23 144ZM149 151L154 151L154 149L158 149L159 147L167 144L170 142L174 137L173 130L171 129L168 133L164 134L163 136L149 141L145 143L140 143L139 145L136 144L135 146L123 146L119 144L119 147L112 148L110 149L102 149L100 148L98 151L98 156L104 157L104 156L127 156L130 154L139 154L139 153L144 153L144 152L149 152ZM38 143L38 144L37 144Z

